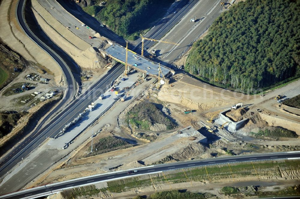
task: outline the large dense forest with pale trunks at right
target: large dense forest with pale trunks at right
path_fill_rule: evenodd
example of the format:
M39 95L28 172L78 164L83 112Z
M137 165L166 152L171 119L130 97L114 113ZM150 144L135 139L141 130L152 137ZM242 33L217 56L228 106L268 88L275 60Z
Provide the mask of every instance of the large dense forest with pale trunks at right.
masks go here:
M248 0L218 17L193 44L185 70L253 93L300 76L300 1Z

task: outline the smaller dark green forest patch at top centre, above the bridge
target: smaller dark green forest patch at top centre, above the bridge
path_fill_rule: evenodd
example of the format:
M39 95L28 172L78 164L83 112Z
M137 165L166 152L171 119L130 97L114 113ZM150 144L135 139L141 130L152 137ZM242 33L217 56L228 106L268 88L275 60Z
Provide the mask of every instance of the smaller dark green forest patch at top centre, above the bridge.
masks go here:
M91 6L83 10L109 26L116 34L131 40L138 31L150 28L152 22L166 14L174 0L112 0L106 7ZM102 9L101 9L102 8Z

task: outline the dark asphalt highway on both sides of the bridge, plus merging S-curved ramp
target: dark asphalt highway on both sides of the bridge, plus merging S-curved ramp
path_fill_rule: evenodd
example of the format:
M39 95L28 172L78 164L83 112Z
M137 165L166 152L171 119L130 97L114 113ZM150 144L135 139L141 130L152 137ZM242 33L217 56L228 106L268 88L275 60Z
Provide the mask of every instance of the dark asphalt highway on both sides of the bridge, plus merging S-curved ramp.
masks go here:
M162 19L155 28L152 28L149 33L151 34L150 36L158 39L162 37L170 28L172 28L176 24L180 17L184 15L184 12L193 7L196 2L196 0L190 2L182 1L174 10L172 10L172 12L176 10L179 10L179 12L177 13L176 11L177 14L171 13L167 16L168 19ZM20 25L29 37L31 37L38 45L46 50L61 65L61 67L64 69L64 72L66 73L67 80L72 80L72 82L68 82L69 85L76 85L75 80L73 79L73 76L64 61L61 60L61 58L48 46L41 42L28 28L23 15L24 3L25 0L20 0L16 10ZM138 51L138 46L136 46L134 50ZM92 101L95 101L97 96L105 91L107 85L110 84L119 75L121 75L123 71L124 67L122 67L122 65L116 66L116 68L108 72L104 78L95 83L95 85L92 86L87 92L83 93L79 98L70 103L68 105L67 111L61 111L60 113L56 114L66 103L66 100L62 100L60 104L58 104L58 106L46 116L43 122L38 125L38 127L32 132L31 135L22 140L16 148L13 148L9 153L5 154L5 156L2 156L2 158L0 159L0 177L3 178L4 175L8 171L10 171L10 169L12 169L14 165L20 162L22 158L25 158L28 154L31 153L31 151L33 151L42 142L44 142L46 137L55 136L59 132L59 130L61 130L64 124L67 124L69 121L73 120L74 116L77 116L85 109L85 107L91 104ZM72 98L76 94L76 91L72 86L70 86L66 94L66 96L71 96L69 98ZM70 93L72 93L72 95ZM66 99L68 99L68 97L66 97ZM55 117L53 118L53 116ZM51 123L49 122L49 118L52 119ZM48 122L44 123L47 120Z

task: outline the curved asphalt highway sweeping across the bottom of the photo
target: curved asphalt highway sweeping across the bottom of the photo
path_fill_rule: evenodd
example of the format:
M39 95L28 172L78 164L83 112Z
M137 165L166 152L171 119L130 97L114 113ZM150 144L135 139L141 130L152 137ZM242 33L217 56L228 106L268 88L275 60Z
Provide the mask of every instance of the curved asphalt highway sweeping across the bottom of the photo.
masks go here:
M57 193L63 189L71 189L73 187L84 186L88 184L95 184L101 181L115 180L116 178L131 177L141 174L157 173L161 171L168 171L181 168L198 167L205 165L234 163L234 162L250 162L250 161L262 161L262 160L275 160L275 159L287 159L287 158L300 158L300 152L283 152L283 153L268 153L268 154L252 154L244 156L231 156L223 158L211 158L204 160L195 160L189 162L176 162L171 164L162 164L142 168L134 168L138 170L137 173L127 174L127 171L112 172L108 174L100 174L89 177L83 177L79 179L68 180L65 182L48 184L45 186L39 186L32 189L26 189L19 192L14 192L7 195L0 196L1 198L13 199L13 198L38 198L41 196Z

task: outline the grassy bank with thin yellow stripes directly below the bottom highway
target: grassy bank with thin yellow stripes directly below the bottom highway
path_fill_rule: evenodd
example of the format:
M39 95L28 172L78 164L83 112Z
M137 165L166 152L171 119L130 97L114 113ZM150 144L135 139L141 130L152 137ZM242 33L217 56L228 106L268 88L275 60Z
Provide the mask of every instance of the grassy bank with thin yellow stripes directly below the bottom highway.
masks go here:
M256 171L253 169L253 166ZM257 179L257 176L259 176L259 178L265 176L280 176L280 171L300 169L300 160L253 162L253 165L251 162L232 163L230 164L230 168L229 165L226 164L206 166L209 176L206 173L205 167L187 168L185 169L185 173L189 180L201 182L221 182L223 179L237 181L238 179L244 179L245 177ZM184 172L181 170L176 170L176 172L164 172L164 174L170 184L188 182ZM234 179L232 179L232 176ZM107 186L110 192L120 193L137 187L152 186L152 183L154 185L167 184L164 176L159 173L152 175L151 179L149 176L138 176L125 178L122 180L109 181L107 182ZM106 188L101 191L105 190Z

